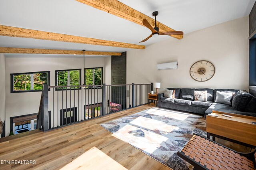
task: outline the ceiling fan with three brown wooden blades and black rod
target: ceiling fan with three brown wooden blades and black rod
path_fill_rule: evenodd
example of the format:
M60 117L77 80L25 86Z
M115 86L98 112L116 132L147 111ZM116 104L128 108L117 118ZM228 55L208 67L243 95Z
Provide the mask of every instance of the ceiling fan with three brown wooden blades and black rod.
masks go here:
M148 29L150 29L150 31L152 31L152 34L150 34L150 36L148 36L148 38L142 40L141 42L145 42L148 39L150 39L151 37L158 37L158 36L162 36L162 35L168 35L168 36L183 35L182 31L159 32L159 28L156 27L156 16L158 16L158 11L153 12L152 15L155 17L155 27L154 28L149 24L149 22L146 19L142 20L143 25L146 26Z

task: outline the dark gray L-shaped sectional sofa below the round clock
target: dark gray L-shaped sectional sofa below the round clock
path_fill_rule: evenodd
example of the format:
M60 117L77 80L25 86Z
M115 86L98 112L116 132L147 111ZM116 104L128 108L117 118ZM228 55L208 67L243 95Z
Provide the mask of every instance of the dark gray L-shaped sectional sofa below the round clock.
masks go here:
M188 88L168 88L169 90L175 89L175 99L170 99L164 97L164 93L158 93L158 107L163 107L163 108L169 108L169 109L176 109L180 111L188 111L192 113L198 113L203 116L206 116L210 113L212 113L213 110L215 111L222 111L226 113L235 113L235 114L240 114L240 115L248 115L248 116L254 116L256 117L256 113L254 112L256 109L251 108L251 107L256 107L256 98L251 96L248 96L247 93L243 93L243 98L240 97L238 93L240 93L240 90L235 90L235 89L188 89ZM207 91L207 102L203 101L194 101L194 91ZM239 99L236 98L231 103L232 105L224 105L221 103L215 103L214 101L216 100L216 91L225 91L225 92L234 92L235 95L233 97L237 96L240 97ZM245 96L246 95L246 100ZM249 94L250 95L250 94ZM253 98L253 99L252 99ZM255 98L255 100L254 100ZM238 105L240 102L240 105ZM244 103L242 103L244 101ZM254 103L255 102L255 103ZM249 109L244 108L238 108L238 106L241 106L241 103L243 106L250 107ZM237 106L238 105L238 106ZM243 111L241 111L243 110ZM244 111L245 110L245 111ZM253 111L253 112L251 112Z

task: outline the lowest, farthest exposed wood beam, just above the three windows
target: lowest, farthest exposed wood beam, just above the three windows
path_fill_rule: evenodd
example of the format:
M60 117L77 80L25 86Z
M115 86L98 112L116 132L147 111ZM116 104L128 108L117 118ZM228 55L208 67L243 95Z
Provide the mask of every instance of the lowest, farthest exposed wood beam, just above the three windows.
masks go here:
M0 47L0 53L23 53L23 54L69 54L83 55L83 51L62 50L62 49L34 49L34 48L12 48ZM85 51L85 55L121 55L116 52Z

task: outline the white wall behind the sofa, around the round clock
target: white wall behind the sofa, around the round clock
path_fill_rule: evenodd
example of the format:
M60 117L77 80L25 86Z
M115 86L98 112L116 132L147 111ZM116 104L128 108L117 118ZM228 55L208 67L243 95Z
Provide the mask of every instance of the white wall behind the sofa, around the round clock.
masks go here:
M196 22L195 22L196 24ZM161 82L160 92L168 87L230 88L248 90L248 16L127 51L127 83ZM214 77L194 81L190 67L199 60L214 64ZM178 69L156 69L156 64L178 61Z

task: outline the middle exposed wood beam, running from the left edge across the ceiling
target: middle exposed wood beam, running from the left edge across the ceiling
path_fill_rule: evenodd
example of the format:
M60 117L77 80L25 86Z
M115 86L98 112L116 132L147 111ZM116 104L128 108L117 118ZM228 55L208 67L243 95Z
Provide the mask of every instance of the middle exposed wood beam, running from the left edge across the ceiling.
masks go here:
M40 40L84 43L84 44L104 45L104 46L123 47L123 48L145 49L144 45L113 42L108 40L100 40L100 39L86 38L86 37L79 37L79 36L70 36L66 34L44 32L44 31L38 31L38 30L29 30L25 28L17 28L17 27L2 26L2 25L0 25L0 36L33 38L33 39L40 39Z

